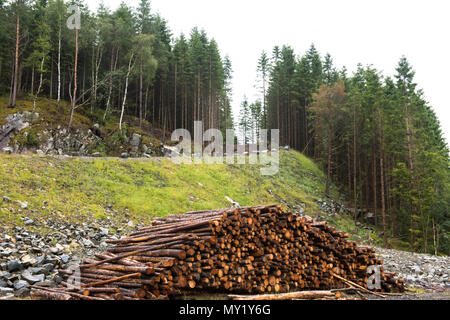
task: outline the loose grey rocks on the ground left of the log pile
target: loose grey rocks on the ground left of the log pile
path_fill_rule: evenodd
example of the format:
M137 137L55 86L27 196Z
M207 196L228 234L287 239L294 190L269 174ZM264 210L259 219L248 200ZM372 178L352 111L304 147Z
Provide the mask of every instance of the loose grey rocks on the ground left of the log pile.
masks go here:
M25 297L31 285L56 286L62 281L58 269L79 263L92 256L96 248L106 248L106 239L117 239L129 231L114 228L108 219L80 225L45 224L50 230L45 235L28 230L42 226L29 218L24 218L25 227L0 232L0 299Z

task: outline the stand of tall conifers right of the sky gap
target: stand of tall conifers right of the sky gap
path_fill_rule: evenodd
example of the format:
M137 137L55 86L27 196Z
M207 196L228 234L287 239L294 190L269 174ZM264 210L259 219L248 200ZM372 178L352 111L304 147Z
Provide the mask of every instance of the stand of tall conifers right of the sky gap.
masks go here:
M290 46L262 52L260 99L241 104L245 141L259 129L280 130L281 145L304 152L388 237L423 252L450 250L449 150L439 121L405 57L394 77L358 65L348 75L312 45L297 56ZM356 209L355 209L356 208Z

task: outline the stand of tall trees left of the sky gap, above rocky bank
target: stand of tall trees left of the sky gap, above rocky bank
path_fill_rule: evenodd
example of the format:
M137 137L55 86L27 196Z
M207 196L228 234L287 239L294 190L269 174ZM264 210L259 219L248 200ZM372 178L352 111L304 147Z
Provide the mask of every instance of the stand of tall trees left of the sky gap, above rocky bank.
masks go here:
M79 30L66 26L71 5ZM214 39L198 28L174 37L149 0L94 13L82 0L0 0L0 93L11 107L45 96L72 102L72 114L115 115L120 129L132 115L164 132L192 130L195 120L224 130L233 126L231 77Z

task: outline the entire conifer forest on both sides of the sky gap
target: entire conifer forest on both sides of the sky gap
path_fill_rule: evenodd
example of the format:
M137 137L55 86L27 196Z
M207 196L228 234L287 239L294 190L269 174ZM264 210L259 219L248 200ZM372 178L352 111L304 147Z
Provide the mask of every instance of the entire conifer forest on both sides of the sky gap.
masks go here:
M66 26L71 5L81 8L80 29ZM355 220L373 213L385 243L449 252L449 150L406 57L394 77L362 65L350 75L314 45L300 55L275 46L255 65L260 99L244 99L235 121L230 59L204 30L174 36L149 0L96 12L82 0L0 0L0 94L10 106L18 97L70 101L69 129L77 108L117 116L119 130L124 115L167 133L192 131L195 120L236 127L244 143L279 129L281 145L322 166L326 195L335 184Z

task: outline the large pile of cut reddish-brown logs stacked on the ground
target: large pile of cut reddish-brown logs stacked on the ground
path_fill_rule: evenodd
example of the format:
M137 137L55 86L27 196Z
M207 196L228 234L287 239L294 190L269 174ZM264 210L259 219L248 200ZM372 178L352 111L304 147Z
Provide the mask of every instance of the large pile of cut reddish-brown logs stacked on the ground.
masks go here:
M285 293L367 288L379 265L381 289L404 290L384 272L375 250L358 246L326 222L316 223L268 205L188 212L158 218L80 265L61 270L64 288L35 287L48 299L165 299L196 292Z

